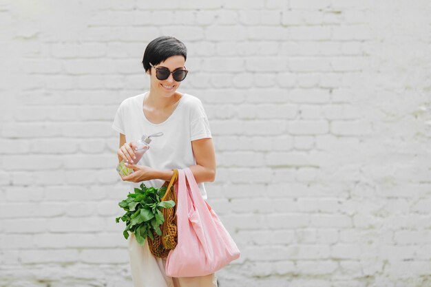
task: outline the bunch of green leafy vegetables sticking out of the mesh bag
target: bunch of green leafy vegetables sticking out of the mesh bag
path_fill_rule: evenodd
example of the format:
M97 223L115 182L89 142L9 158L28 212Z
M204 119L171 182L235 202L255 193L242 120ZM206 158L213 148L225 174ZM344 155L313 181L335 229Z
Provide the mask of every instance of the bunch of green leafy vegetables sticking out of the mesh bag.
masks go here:
M118 203L126 213L116 217L115 221L126 222L126 228L123 231L125 239L129 238L130 231L135 234L136 241L143 245L147 236L154 240L153 233L162 235L160 225L165 222L165 218L160 210L175 206L173 200L160 201L165 193L166 187L156 189L140 184L140 189L135 188L134 193L129 193L125 200Z

